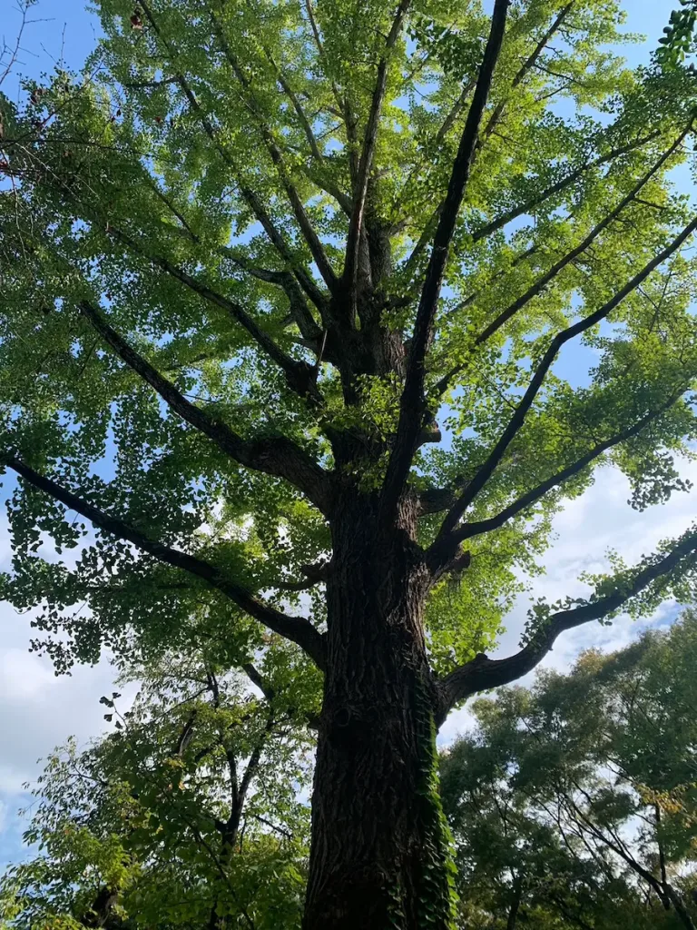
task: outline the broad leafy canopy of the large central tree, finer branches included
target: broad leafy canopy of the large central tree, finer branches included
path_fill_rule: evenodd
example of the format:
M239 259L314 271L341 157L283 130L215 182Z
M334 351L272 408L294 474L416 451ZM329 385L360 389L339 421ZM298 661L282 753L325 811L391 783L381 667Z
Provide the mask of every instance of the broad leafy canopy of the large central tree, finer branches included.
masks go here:
M441 673L491 644L515 569L533 569L549 515L595 466L621 467L645 507L682 486L673 454L694 432L690 206L666 177L689 157L691 81L622 67L605 46L616 5L556 6L511 10L427 339L421 438L441 438L440 414L447 441L422 446L410 476L419 536L434 559L451 538L469 552L431 591ZM322 581L336 485L379 485L399 435L403 372L367 357L368 334L414 325L487 17L410 7L388 43L366 206L382 265L358 262L373 320L349 308L344 332L329 308L347 290L359 172L347 122L361 138L388 8L160 7L102 5L85 75L3 104L6 461L27 479L5 593L47 594L42 625L91 659L125 615L176 636L184 585L198 598L203 579L242 657L261 644L250 615L316 655L309 626L276 611ZM554 365L572 338L598 354L575 390ZM342 443L360 446L352 464ZM64 517L78 498L99 541ZM79 546L74 567L37 555L46 536ZM66 620L85 601L90 616ZM321 629L320 597L310 610Z

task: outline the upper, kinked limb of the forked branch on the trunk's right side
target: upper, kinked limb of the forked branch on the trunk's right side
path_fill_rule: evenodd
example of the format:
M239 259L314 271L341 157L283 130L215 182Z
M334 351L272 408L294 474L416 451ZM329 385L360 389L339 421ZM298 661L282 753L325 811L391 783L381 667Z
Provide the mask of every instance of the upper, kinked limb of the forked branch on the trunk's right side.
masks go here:
M659 252L655 258L651 259L644 268L635 274L635 276L627 282L627 284L621 288L619 291L614 294L614 296L604 303L597 311L590 313L583 320L579 320L577 323L574 323L572 326L568 326L566 329L563 329L559 332L554 339L552 339L551 344L547 351L545 352L542 361L537 366L533 379L528 386L528 390L523 394L519 405L516 407L516 411L513 414L513 417L509 420L506 430L503 432L503 435L499 441L494 445L492 452L489 457L486 459L484 464L481 466L480 471L477 472L473 478L470 485L467 486L467 490L459 498L455 507L449 512L448 516L443 521L441 527L441 539L449 534L454 527L457 525L460 517L467 510L467 507L472 503L472 501L480 493L481 488L486 485L495 471L498 463L504 457L508 445L511 444L520 428L522 427L525 418L530 410L535 397L542 388L542 385L546 379L546 374L549 371L550 367L553 365L554 360L556 359L559 350L564 345L565 342L568 342L570 339L573 339L575 336L579 336L581 333L584 333L587 329L590 329L592 326L597 326L602 320L604 320L610 313L618 307L622 301L628 297L638 286L649 277L651 272L655 271L659 265L661 265L665 259L669 259L677 249L683 245L683 243L690 238L690 235L694 233L697 229L697 217L692 219L692 221L682 230L681 233L678 233L676 238L670 243L669 246L666 246L663 251Z

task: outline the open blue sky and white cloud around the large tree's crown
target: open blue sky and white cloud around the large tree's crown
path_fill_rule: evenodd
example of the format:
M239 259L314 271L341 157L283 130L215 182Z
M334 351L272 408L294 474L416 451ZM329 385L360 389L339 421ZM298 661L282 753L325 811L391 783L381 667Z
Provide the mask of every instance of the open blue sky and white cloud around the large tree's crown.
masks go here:
M674 6L677 0L625 0L627 30L650 36L638 46L625 47L630 63L648 59ZM11 42L20 15L13 0L0 0L0 11L0 33ZM61 54L69 67L79 68L99 34L99 23L93 14L85 12L83 0L40 0L30 11L30 20L23 36L19 70L33 77L50 71ZM580 379L585 365L587 357L582 352L567 352L559 374ZM697 483L697 464L686 463L684 471ZM0 492L0 569L7 568L10 555L7 525L2 517L8 488L6 484ZM552 600L573 595L581 590L575 579L583 571L601 570L609 548L621 551L631 562L651 551L659 539L677 535L690 520L697 519L695 495L678 496L666 506L642 514L626 506L627 497L625 479L606 473L602 481L559 515L555 521L558 540L546 560L546 577L535 580L535 595ZM509 618L503 651L515 648L526 609L523 598ZM651 622L663 624L674 616L675 608L668 605ZM611 628L593 625L574 631L561 638L546 665L565 668L579 650L591 644L621 646L639 629L620 619ZM99 734L103 726L99 697L112 689L112 671L104 662L94 669L77 669L72 677L56 678L47 660L28 653L29 639L28 618L0 603L0 866L22 855L22 821L16 811L26 798L22 783L39 774L37 758L70 734L80 741ZM466 719L466 713L454 714L444 728L444 738L453 737Z

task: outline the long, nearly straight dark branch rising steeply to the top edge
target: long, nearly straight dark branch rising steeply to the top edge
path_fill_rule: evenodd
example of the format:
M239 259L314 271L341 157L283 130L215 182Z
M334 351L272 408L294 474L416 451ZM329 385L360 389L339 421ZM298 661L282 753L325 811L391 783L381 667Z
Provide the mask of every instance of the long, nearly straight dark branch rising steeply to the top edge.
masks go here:
M498 60L504 38L507 9L508 0L495 0L491 32L484 52L484 60L481 63L477 86L467 113L467 122L454 161L441 218L433 238L426 279L416 312L414 338L412 339L404 390L401 394L397 435L389 458L388 472L383 487L382 509L388 518L391 518L397 506L411 468L414 445L422 425L426 354L432 337L433 321L441 294L445 263L474 158L481 116L489 97L493 69L496 60Z

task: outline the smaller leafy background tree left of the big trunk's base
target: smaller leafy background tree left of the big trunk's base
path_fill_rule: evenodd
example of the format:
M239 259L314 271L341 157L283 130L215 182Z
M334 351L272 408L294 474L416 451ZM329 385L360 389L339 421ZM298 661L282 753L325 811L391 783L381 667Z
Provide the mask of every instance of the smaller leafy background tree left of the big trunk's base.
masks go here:
M299 927L309 745L276 665L266 697L201 654L132 669L144 684L123 714L119 694L101 697L114 729L48 758L25 834L40 852L7 871L2 925Z

